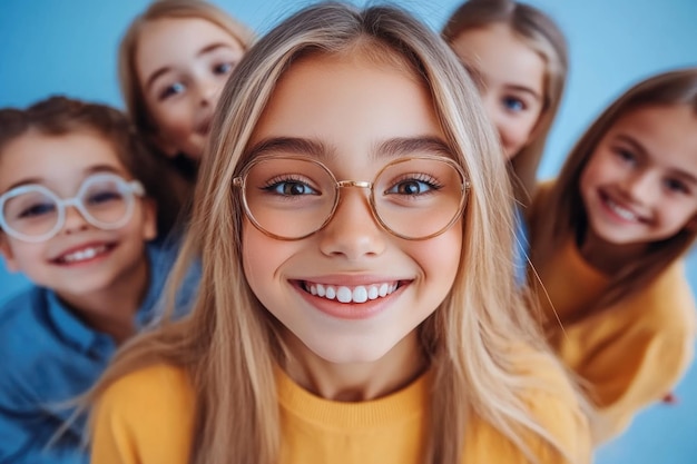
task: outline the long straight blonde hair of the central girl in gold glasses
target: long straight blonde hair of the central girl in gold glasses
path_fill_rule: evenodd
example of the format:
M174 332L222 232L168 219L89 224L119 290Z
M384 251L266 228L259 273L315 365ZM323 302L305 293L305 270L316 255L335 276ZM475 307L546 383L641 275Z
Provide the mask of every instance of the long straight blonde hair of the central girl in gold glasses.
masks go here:
M203 180L196 187L192 229L169 289L200 255L203 277L194 313L127 344L88 401L144 366L180 366L196 395L192 463L277 462L282 440L274 366L284 363L283 346L277 323L252 293L243 272L244 213L232 179L249 161L251 136L293 62L301 57L355 52L376 62L405 63L429 88L453 158L472 186L455 284L420 327L438 392L430 399L428 455L422 462L460 462L465 423L472 414L498 428L530 461L536 457L523 438L530 431L551 453L566 456L523 398L530 388L540 387L534 366L557 364L542 347L517 292L510 258L513 209L504 159L482 156L500 149L497 136L454 53L426 27L391 7L363 11L338 3L308 7L245 56L218 103ZM513 348L523 345L533 349ZM230 417L244 421L230 422Z

